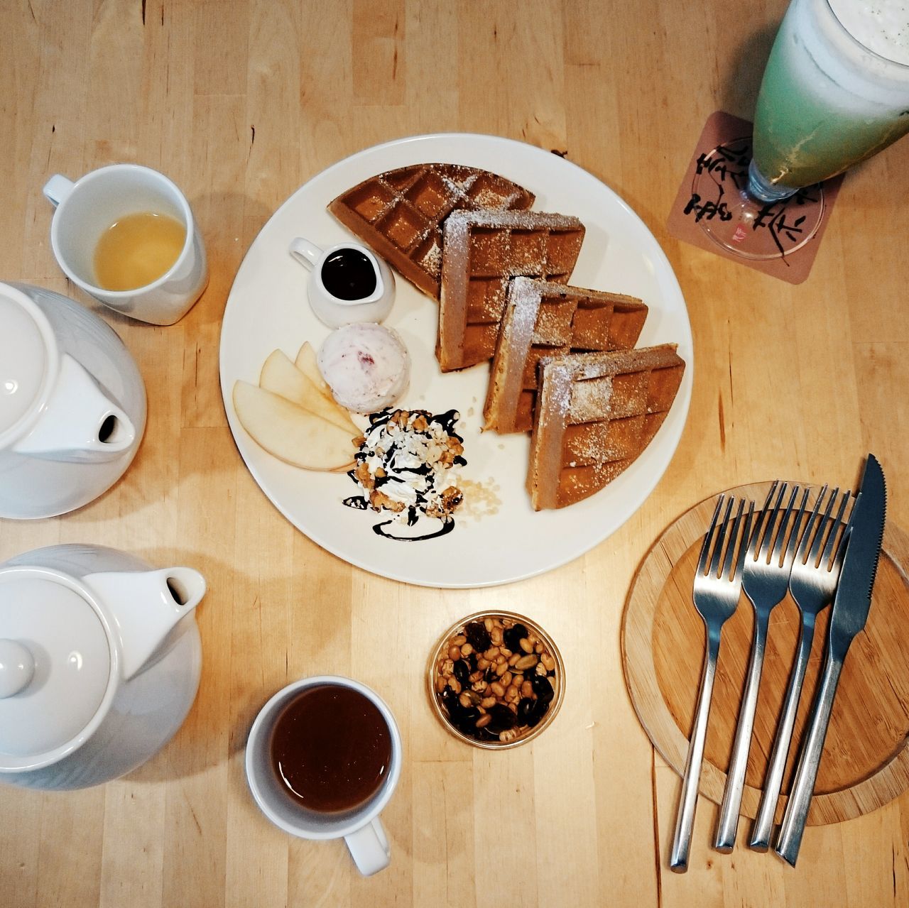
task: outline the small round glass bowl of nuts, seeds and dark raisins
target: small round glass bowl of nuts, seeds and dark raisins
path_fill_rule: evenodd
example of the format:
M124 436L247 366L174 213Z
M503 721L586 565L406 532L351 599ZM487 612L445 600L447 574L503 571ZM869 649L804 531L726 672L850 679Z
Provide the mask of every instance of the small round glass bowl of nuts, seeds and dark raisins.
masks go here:
M564 663L549 634L513 612L478 612L442 635L427 669L445 728L476 747L517 747L541 733L564 696Z

